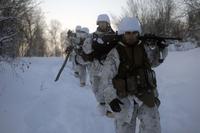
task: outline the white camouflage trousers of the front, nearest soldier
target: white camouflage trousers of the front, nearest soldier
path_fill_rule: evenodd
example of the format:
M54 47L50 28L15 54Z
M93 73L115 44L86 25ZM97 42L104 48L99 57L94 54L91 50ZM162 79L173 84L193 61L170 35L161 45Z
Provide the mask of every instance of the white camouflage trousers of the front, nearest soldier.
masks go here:
M161 133L160 116L157 106L135 106L130 123L115 120L116 133L136 133L136 118L140 120L139 133Z

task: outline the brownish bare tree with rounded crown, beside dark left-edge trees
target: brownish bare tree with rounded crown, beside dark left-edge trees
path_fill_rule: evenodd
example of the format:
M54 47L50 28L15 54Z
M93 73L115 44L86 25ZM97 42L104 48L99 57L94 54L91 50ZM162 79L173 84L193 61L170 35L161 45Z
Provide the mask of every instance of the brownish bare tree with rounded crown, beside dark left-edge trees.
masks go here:
M30 16L32 15L32 16ZM33 10L26 16L23 33L27 41L27 56L44 56L46 52L45 30L47 28L43 13L40 9Z

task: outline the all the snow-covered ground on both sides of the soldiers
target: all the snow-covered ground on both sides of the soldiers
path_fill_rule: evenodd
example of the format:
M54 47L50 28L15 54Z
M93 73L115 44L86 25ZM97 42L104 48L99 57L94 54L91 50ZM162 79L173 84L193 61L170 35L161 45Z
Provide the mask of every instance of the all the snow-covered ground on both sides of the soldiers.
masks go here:
M70 63L54 82L62 62L25 58L14 70L0 63L0 133L114 133L113 120L98 113L90 86L79 87ZM200 132L199 70L200 48L170 52L156 68L162 133Z

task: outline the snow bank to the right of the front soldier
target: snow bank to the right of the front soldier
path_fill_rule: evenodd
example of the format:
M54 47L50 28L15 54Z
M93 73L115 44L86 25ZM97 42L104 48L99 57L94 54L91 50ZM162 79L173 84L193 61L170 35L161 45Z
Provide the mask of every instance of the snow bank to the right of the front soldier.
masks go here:
M200 48L170 52L156 71L163 133L200 133Z

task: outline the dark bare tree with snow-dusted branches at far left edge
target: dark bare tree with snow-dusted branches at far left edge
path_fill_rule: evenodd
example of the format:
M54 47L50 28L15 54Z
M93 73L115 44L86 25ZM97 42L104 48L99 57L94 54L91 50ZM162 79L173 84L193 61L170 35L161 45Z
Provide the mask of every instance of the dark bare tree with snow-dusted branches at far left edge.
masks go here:
M16 4L11 1L0 1L0 61L16 56L16 48L19 45L17 24L18 17L13 10ZM6 58L5 58L6 57Z

